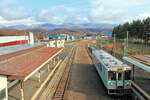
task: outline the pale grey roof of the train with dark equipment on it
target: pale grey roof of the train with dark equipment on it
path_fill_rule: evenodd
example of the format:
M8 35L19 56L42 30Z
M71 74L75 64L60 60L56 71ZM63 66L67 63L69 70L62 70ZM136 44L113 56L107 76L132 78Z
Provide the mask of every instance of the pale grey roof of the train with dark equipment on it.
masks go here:
M93 50L93 54L107 68L127 66L122 61L118 60L116 57L113 57L112 55L105 52L104 50Z

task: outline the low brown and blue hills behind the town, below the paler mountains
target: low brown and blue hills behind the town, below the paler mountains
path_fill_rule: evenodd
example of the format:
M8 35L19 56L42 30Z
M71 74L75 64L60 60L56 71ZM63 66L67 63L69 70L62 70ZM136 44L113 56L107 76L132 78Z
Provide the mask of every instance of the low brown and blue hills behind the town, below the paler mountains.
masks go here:
M85 28L85 29L80 29L80 28L56 28L56 29L49 29L45 30L42 28L33 28L33 29L25 29L25 30L0 30L0 35L2 36L16 36L16 35L25 35L26 32L34 32L36 35L39 34L69 34L69 35L74 35L74 36L84 36L87 34L91 35L98 35L102 31L108 31L111 29L98 29L98 28Z

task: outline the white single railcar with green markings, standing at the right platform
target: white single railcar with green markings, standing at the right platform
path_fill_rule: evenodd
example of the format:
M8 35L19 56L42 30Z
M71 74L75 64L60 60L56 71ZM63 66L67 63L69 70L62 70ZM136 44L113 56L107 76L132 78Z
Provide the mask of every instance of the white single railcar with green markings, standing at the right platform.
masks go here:
M104 50L89 48L108 95L131 94L131 67Z

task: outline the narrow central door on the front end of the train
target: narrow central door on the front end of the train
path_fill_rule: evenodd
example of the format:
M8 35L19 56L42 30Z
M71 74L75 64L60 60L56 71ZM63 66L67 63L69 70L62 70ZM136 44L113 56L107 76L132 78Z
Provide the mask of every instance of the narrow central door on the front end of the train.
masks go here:
M123 87L123 72L117 72L116 73L116 81L117 81L117 88L122 88Z

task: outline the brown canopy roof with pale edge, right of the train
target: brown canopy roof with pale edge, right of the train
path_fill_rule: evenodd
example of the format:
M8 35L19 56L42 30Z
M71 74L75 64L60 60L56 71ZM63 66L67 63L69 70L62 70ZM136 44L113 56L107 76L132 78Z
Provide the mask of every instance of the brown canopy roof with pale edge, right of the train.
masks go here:
M129 57L123 57L123 60L134 64L135 66L144 69L147 72L150 72L150 65L148 62L149 56L148 55L136 55L136 56L129 56Z

